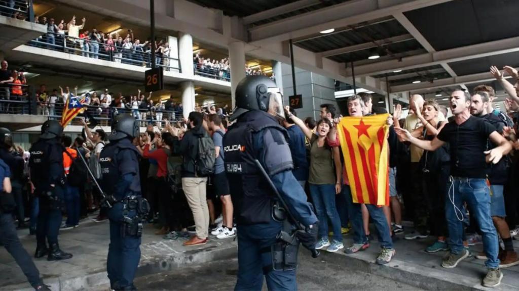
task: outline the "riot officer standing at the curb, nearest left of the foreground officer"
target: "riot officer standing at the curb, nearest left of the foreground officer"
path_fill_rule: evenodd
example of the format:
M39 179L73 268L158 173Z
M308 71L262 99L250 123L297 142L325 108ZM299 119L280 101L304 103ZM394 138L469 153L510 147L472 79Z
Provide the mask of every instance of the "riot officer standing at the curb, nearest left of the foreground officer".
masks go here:
M110 143L99 156L103 205L110 207L110 246L106 270L115 290L135 290L133 278L141 258L141 221L149 210L141 197L139 152L132 141L139 137L139 125L129 115L117 115L112 123Z

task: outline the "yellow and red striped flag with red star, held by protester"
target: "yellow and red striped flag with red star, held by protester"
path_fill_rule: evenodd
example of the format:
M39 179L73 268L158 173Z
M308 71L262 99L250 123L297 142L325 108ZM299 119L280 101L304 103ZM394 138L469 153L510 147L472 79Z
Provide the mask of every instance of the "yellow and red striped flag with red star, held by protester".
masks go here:
M337 127L355 203L389 205L389 114L345 117Z

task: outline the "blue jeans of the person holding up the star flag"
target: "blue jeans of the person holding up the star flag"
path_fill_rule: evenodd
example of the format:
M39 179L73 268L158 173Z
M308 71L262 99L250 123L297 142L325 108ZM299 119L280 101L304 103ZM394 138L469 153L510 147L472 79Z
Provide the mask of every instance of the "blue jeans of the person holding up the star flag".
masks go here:
M353 243L367 242L366 233L364 232L364 225L362 223L362 209L360 203L353 203L351 197L351 189L349 185L343 185L344 195L348 202L348 213L350 214L351 227L353 228ZM382 207L377 207L372 204L365 204L367 211L370 212L371 219L375 223L378 231L378 240L383 248L392 249L393 241L389 232L388 222Z

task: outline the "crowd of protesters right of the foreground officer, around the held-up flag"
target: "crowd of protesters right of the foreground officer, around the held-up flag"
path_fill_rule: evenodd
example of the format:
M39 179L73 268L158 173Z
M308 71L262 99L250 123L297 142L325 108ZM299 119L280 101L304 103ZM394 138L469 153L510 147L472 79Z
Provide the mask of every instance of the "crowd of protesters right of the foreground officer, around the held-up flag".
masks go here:
M344 248L347 254L365 250L373 239L372 222L382 247L378 264L387 264L395 255L395 236L406 240L432 236L425 252L447 251L442 267L454 268L475 256L485 260L488 270L482 284L499 285L500 268L519 264L512 241L519 223L517 185L512 179L519 166L512 150L519 149L515 138L519 74L509 66L503 70L493 66L490 73L509 95L504 101L506 111L494 107L495 91L488 85L476 86L472 92L452 92L449 119L447 108L417 94L411 97L405 119L402 107L395 107L387 119L390 203L381 208L353 202L344 159L337 154L340 118L336 107L321 105L317 123L303 121L286 108L284 125L297 164L294 176L308 187L320 221L316 249L336 252ZM349 97L347 115L365 117L386 111L373 107L372 101L366 93ZM413 228L404 229L403 217L413 221ZM352 245L346 248L342 243L345 232L353 235ZM483 252L473 254L470 246L474 244L483 244Z

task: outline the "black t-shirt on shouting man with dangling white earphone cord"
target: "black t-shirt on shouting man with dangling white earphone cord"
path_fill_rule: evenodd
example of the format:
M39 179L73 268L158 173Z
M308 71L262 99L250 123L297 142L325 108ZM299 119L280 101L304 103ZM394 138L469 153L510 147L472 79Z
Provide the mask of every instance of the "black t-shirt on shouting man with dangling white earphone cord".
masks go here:
M450 146L450 173L460 178L486 178L484 151L487 150L488 136L496 128L483 119L469 117L458 125L453 120L438 134L438 139Z

